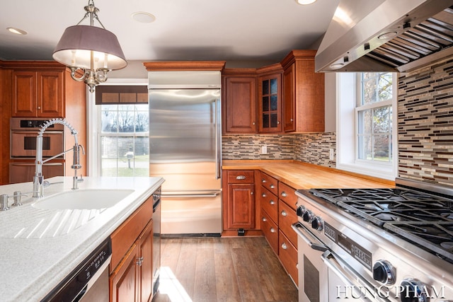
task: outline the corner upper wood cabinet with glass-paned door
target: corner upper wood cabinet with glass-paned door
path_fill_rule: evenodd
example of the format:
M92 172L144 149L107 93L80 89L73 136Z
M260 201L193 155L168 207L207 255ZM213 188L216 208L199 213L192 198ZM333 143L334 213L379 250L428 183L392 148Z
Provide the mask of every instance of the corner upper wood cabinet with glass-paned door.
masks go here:
M258 132L282 132L282 66L273 64L257 69Z

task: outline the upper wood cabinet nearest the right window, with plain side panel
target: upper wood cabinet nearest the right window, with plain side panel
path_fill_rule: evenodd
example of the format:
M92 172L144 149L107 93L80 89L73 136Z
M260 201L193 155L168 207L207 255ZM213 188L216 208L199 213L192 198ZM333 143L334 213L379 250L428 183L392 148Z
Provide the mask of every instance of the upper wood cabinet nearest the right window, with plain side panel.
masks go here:
M282 60L285 132L324 132L324 74L314 72L315 54L293 50Z

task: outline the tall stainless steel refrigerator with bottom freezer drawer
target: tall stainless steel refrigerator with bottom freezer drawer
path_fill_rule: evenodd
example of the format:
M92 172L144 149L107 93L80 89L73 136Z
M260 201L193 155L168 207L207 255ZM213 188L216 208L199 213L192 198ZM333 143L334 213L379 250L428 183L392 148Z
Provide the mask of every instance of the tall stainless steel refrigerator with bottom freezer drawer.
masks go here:
M149 171L162 236L222 233L220 71L149 71Z

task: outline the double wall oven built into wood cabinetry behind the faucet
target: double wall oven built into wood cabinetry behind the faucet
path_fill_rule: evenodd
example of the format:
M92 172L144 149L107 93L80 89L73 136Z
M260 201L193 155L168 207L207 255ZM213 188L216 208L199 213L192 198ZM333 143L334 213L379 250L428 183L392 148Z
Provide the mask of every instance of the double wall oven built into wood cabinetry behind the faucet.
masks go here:
M9 182L30 182L35 174L36 137L42 118L13 117L10 121ZM64 125L53 124L42 134L42 158L50 158L64 151ZM46 178L64 175L64 155L42 165Z

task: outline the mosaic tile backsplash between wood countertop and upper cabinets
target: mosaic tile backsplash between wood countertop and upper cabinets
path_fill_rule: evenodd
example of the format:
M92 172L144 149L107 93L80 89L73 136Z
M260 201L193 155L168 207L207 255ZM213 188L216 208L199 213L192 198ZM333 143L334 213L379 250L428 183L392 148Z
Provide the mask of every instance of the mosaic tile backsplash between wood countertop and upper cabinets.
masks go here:
M266 154L262 153L263 146ZM335 132L222 136L222 158L226 160L289 159L335 167L335 157L329 160L330 149L336 149Z

